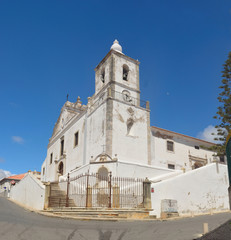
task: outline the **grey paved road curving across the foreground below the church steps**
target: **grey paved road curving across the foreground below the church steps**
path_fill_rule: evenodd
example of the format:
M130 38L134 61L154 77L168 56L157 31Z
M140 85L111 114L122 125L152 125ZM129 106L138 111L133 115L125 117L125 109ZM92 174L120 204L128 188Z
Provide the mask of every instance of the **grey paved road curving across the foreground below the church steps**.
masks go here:
M212 230L228 219L231 213L152 222L78 221L43 216L0 197L0 240L191 240L202 233L203 222Z

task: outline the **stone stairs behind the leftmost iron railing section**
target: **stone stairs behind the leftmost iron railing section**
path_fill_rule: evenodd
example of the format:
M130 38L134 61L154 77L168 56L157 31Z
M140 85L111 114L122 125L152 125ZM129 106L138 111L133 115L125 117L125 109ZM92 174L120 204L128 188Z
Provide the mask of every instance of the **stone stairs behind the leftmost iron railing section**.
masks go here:
M50 184L49 208L62 208L66 206L66 192L60 190L58 183ZM69 199L69 207L76 207L73 199Z

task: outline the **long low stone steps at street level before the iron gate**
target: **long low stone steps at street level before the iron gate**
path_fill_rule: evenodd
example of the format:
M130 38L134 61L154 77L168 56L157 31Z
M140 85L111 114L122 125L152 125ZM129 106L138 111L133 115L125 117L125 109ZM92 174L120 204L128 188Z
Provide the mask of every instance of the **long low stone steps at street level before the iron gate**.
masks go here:
M102 209L102 208L77 208L62 207L44 210L42 213L52 216L62 216L79 220L151 220L156 216L150 216L151 209Z

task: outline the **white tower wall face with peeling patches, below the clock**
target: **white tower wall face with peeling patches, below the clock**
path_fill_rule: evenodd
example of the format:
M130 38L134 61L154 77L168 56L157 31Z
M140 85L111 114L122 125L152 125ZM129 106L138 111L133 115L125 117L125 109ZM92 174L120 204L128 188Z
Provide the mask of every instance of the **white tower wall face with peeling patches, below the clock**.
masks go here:
M133 114L129 113L129 109ZM147 111L129 104L113 102L112 152L122 161L147 164ZM130 133L127 133L127 121L134 119Z

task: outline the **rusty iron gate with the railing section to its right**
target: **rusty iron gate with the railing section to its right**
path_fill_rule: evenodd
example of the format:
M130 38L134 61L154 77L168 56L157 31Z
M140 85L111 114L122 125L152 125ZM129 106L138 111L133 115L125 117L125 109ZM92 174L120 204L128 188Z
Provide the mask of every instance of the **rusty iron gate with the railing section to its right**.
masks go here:
M70 177L67 184L67 203L73 199L77 207L135 208L143 207L144 179L100 176L85 173Z

